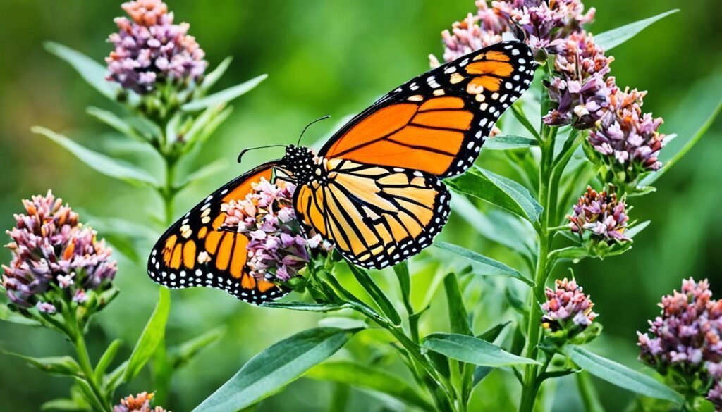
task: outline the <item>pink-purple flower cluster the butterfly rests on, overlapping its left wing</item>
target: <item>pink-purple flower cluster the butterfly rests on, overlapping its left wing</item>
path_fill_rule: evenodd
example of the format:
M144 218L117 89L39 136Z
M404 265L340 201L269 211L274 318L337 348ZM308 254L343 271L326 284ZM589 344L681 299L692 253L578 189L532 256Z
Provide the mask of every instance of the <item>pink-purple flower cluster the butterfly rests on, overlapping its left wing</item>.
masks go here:
M224 203L225 229L249 237L248 267L258 279L287 281L298 276L310 256L308 248L329 245L321 235L306 238L293 209L295 185L278 180L271 183L264 177L252 183L253 191L242 200Z

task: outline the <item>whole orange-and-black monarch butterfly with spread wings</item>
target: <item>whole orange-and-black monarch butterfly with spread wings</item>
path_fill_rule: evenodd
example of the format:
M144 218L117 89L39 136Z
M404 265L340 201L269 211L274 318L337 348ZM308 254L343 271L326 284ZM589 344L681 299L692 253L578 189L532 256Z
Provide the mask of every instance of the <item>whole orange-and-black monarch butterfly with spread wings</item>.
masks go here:
M389 92L318 154L285 146L282 159L236 177L173 224L151 252L149 276L171 288L224 289L255 304L286 294L249 274L245 235L219 230L222 204L245 198L251 183L273 179L276 170L296 185L297 219L352 263L383 268L419 253L448 219L450 194L441 179L474 164L534 69L527 45L497 43Z

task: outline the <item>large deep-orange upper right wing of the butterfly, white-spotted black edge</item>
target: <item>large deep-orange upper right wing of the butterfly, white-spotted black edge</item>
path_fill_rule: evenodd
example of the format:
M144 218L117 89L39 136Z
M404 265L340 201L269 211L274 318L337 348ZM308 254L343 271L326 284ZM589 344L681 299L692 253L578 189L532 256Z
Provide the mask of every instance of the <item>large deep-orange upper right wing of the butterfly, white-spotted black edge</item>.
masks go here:
M529 88L534 68L524 43L474 51L388 93L319 154L442 178L461 174L474 164L495 121Z

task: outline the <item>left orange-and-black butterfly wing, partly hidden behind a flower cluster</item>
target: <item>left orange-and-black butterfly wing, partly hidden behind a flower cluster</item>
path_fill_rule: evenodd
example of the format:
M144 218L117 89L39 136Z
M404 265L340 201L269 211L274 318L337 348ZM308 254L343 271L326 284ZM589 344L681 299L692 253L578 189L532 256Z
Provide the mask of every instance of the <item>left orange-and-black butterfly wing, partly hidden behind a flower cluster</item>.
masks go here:
M148 274L173 289L206 286L225 290L238 299L261 304L288 290L257 280L248 273L248 238L218 230L225 220L221 205L245 198L251 183L271 180L274 163L266 163L236 177L198 203L160 237L148 260Z

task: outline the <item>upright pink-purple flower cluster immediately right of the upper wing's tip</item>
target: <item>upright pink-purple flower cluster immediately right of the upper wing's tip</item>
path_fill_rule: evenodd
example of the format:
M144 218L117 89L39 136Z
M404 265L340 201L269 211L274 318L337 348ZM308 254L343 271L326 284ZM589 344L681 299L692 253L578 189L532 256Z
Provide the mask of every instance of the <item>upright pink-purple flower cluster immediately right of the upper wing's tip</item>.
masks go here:
M614 58L604 56L591 33L583 31L571 33L549 52L556 55L554 71L560 76L544 85L557 107L542 120L552 126L571 124L579 129L592 128L609 108L614 80L609 82L605 76Z

